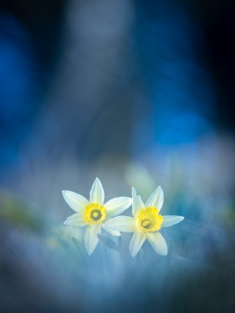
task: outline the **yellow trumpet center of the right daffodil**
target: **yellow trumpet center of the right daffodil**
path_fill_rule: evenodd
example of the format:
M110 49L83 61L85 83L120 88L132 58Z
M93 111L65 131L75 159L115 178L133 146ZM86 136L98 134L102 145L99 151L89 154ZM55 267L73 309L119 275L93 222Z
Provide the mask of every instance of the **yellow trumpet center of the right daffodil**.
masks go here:
M157 231L161 228L163 218L156 207L141 209L137 217L137 228L143 232Z

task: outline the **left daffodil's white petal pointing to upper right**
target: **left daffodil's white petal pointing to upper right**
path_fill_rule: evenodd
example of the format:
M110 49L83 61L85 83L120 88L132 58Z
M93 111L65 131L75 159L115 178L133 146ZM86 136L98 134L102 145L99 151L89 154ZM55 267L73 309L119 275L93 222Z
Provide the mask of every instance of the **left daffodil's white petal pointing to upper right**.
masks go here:
M129 197L117 197L107 201L104 207L107 210L107 214L110 217L123 213L132 204L132 198Z

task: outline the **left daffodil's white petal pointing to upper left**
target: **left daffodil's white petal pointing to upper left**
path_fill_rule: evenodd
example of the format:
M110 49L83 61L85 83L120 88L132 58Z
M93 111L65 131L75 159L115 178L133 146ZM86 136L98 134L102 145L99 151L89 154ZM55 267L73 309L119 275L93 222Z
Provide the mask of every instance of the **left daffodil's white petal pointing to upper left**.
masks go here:
M75 212L84 212L85 207L89 204L89 201L85 197L76 192L63 190L62 194L69 207Z

